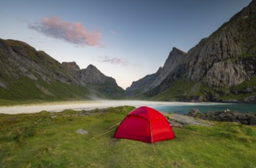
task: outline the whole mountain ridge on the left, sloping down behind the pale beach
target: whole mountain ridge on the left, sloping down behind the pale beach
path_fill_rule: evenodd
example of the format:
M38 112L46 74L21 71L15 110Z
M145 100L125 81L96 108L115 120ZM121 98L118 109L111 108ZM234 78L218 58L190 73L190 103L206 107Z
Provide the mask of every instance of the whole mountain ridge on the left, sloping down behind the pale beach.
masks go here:
M123 93L115 79L93 65L80 69L24 42L0 39L0 99L110 99Z

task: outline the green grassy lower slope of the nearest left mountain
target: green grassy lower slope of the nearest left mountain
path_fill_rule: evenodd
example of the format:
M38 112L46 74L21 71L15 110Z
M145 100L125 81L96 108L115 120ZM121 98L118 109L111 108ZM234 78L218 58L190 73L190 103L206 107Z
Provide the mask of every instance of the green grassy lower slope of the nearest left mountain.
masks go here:
M37 100L64 100L64 99L89 99L90 91L82 86L74 86L62 82L51 84L43 80L34 81L28 77L22 77L10 81L8 88L0 87L0 99L25 101Z

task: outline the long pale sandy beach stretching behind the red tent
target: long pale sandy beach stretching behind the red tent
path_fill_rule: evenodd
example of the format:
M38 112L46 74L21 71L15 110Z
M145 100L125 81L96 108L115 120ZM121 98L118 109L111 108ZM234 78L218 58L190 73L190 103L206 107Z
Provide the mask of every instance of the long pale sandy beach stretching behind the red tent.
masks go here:
M161 105L189 105L189 102L150 102L134 100L97 100L97 101L77 101L77 102L53 102L38 105L15 105L0 107L3 114L36 113L40 111L63 111L65 109L89 110L93 108L109 108L122 105L139 106L161 106Z

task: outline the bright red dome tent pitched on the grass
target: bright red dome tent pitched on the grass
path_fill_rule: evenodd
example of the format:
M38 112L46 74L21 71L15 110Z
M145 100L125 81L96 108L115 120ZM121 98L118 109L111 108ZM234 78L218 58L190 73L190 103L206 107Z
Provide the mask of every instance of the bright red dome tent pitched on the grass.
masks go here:
M154 143L173 139L175 135L159 111L143 106L130 111L113 137Z

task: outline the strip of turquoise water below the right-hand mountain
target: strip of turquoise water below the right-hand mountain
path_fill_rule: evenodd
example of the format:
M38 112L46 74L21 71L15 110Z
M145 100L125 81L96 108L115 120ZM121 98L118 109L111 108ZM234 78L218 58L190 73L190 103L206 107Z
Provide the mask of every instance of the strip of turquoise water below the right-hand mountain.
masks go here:
M256 113L256 104L197 104L195 105L169 105L169 106L154 106L158 111L173 112L177 114L186 114L190 109L198 109L202 113L207 111L222 111L235 110L238 112L254 112Z

